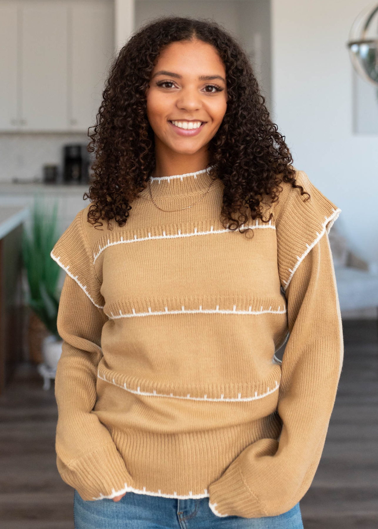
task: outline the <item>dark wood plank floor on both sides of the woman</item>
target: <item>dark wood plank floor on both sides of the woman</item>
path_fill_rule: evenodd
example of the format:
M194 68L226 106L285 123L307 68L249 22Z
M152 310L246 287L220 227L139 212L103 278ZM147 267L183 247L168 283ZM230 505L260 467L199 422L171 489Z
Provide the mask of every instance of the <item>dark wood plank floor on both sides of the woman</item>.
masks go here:
M304 529L378 527L378 337L345 321L345 357L325 449L300 502ZM20 365L0 396L0 528L74 529L74 489L56 469L53 384Z

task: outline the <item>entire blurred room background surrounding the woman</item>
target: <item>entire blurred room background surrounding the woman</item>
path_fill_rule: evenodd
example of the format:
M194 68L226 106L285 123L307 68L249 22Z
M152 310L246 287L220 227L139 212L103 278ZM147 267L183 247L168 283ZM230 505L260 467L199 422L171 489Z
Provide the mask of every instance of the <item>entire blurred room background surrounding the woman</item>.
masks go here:
M65 274L49 254L88 204L109 63L161 14L211 17L240 40L294 166L341 208L344 367L301 510L305 529L376 528L378 3L364 0L0 0L0 527L74 527L55 459Z

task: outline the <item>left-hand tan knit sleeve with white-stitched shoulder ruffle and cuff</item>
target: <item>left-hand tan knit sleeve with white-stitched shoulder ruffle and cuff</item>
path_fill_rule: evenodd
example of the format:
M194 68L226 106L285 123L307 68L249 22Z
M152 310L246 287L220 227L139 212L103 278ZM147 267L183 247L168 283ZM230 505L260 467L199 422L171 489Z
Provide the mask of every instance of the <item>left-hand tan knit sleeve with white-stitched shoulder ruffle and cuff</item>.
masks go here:
M56 453L61 478L84 500L94 500L121 494L132 479L110 432L92 413L102 327L108 318L93 302L94 298L100 300L100 285L95 291L97 279L89 277L91 267L80 222L78 216L68 229L76 232L71 244L67 244L65 232L52 251L52 257L59 257L67 269L57 322L64 343L55 379ZM86 285L91 285L90 291Z

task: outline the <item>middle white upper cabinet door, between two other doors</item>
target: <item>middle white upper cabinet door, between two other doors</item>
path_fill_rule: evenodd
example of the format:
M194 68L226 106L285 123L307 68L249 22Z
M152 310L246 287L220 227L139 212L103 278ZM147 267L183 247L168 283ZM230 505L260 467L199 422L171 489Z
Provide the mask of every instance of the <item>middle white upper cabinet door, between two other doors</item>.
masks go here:
M66 2L22 5L22 130L67 130Z

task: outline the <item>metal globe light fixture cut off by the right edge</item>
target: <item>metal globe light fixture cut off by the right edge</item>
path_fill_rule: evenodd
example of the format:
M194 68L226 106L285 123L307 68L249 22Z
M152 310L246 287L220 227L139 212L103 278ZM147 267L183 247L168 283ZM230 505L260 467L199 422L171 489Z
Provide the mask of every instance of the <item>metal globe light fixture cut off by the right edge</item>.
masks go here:
M350 29L347 47L357 73L378 87L378 4L359 13Z

